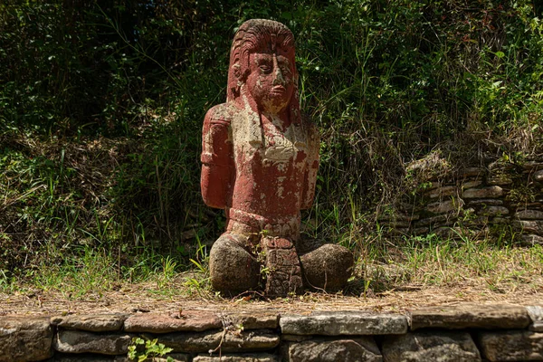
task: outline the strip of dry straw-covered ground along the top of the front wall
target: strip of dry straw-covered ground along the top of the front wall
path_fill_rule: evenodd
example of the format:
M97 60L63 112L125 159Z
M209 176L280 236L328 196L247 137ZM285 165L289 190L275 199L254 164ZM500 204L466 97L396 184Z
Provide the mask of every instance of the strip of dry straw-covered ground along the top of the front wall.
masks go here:
M543 306L543 286L538 290L489 291L454 286L393 289L367 296L344 296L326 293L305 293L289 298L265 300L257 294L246 293L233 299L203 296L164 296L155 294L146 285L87 295L77 300L59 292L0 293L0 316L90 314L113 312L159 312L179 310L213 310L217 312L277 311L281 314L308 314L316 310L367 310L403 313L424 306L477 304L515 304Z

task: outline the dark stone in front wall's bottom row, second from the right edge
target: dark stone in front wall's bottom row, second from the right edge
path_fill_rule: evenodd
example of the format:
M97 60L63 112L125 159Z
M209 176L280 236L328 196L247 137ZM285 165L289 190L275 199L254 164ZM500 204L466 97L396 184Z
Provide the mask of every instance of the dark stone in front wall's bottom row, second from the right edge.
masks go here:
M472 337L465 332L415 332L403 336L387 336L381 349L386 362L481 360Z

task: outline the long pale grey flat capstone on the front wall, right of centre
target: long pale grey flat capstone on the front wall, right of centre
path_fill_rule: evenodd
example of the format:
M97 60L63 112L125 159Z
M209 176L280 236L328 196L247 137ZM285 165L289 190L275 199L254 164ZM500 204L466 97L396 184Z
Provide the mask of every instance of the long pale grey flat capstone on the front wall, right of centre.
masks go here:
M407 319L400 314L361 311L315 312L310 316L286 315L279 321L284 334L294 335L379 335L402 334Z

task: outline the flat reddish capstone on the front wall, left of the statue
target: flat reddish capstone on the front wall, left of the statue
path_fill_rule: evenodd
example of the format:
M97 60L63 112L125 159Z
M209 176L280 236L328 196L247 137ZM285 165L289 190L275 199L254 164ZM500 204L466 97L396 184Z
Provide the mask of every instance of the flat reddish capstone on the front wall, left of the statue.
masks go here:
M220 329L223 323L209 311L183 310L180 316L174 317L155 313L134 314L125 320L124 327L127 332L168 333Z

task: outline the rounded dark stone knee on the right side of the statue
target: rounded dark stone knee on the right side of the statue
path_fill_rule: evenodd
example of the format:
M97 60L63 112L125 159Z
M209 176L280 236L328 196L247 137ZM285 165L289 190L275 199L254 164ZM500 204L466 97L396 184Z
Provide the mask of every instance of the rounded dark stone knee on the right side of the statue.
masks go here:
M354 257L346 247L325 243L313 244L300 255L304 284L308 288L338 291L351 276Z

